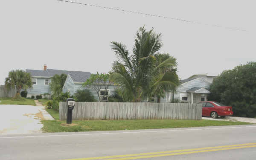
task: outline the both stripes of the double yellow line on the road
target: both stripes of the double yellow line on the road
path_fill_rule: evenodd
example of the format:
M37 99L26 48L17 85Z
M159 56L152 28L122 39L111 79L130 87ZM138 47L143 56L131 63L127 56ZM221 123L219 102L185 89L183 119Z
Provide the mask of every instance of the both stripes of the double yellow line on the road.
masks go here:
M68 160L103 160L103 159L135 160L135 159L143 159L143 158L164 157L164 156L193 154L193 153L204 153L204 152L211 152L211 151L223 151L223 150L251 148L251 147L256 147L256 143L245 143L245 144L237 144L237 145L222 145L222 146L216 146L216 147L181 149L181 150L174 150L174 151L159 151L159 152L149 152L149 153L139 153L139 154L124 154L124 155L116 155L116 156L78 158L78 159L68 159Z

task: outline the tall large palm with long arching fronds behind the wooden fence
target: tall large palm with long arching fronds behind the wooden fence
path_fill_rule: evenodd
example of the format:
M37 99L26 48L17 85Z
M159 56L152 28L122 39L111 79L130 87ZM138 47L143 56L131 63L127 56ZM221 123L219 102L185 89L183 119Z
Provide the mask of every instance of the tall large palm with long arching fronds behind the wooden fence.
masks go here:
M141 102L143 98L163 96L164 90L174 90L179 84L176 59L158 51L163 46L161 34L145 27L137 31L133 55L125 45L111 42L117 61L113 63L111 81L121 87L123 99Z

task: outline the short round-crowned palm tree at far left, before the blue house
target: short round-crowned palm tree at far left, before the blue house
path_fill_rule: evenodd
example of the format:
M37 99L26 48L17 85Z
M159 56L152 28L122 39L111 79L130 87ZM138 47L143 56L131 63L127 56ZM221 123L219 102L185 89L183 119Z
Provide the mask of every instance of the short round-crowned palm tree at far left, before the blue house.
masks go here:
M23 70L10 71L8 77L5 79L5 86L7 89L16 88L17 93L13 99L21 99L20 90L32 88L30 73L26 73Z

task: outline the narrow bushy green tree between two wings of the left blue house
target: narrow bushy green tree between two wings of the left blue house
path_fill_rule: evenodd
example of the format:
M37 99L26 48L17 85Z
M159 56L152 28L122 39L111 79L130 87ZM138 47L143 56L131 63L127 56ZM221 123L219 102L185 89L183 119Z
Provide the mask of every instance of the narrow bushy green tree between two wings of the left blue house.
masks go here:
M61 74L61 76L55 74L51 78L50 88L54 96L58 96L59 94L62 93L62 88L64 86L66 79L67 79L66 74Z

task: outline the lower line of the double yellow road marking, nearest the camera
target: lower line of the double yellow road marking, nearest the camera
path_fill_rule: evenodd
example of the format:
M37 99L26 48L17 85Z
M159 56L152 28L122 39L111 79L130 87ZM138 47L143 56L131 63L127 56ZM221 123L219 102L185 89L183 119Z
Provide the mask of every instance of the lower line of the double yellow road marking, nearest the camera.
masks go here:
M165 157L165 156L173 156L173 155L180 155L180 154L193 154L193 153L223 151L223 150L239 149L239 148L251 148L251 147L256 147L256 145L246 145L246 146L240 146L240 147L218 148L218 149L200 150L200 151L178 152L178 153L170 153L170 154L155 154L155 155L149 155L149 156L125 157L125 158L116 158L116 159L108 159L108 160L134 160L134 159L143 159L143 158L152 158L152 157Z

